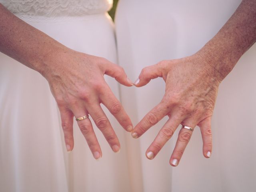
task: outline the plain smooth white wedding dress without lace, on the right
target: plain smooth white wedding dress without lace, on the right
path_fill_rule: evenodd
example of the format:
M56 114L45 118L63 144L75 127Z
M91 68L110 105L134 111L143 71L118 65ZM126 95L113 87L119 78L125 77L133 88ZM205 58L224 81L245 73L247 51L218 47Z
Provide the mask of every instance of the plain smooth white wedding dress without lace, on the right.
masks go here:
M198 51L234 13L241 0L120 0L115 23L119 64L130 79L161 60ZM177 167L169 165L176 135L148 160L145 152L167 118L137 142L136 192L253 192L256 189L256 44L221 83L212 119L213 151L202 155L199 128ZM164 95L164 81L121 87L124 108L136 124ZM135 148L135 147L134 147ZM134 167L133 166L133 167Z

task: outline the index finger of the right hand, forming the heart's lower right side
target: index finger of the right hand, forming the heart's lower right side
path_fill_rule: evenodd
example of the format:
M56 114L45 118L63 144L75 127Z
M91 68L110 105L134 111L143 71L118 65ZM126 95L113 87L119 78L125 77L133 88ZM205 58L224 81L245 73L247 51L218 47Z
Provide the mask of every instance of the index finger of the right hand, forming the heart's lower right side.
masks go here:
M150 127L157 124L164 116L170 112L169 107L163 100L155 106L144 118L134 127L132 137L138 138L144 134Z

